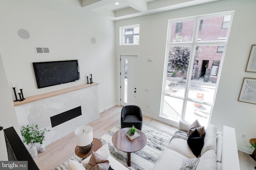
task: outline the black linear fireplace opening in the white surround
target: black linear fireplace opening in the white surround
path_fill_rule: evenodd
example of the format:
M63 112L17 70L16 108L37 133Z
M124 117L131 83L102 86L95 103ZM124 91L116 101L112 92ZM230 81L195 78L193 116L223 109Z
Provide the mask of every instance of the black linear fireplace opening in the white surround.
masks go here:
M60 113L58 115L54 115L54 116L50 117L52 127L60 125L61 123L64 123L71 119L74 119L75 117L78 117L80 115L82 115L81 106L76 107L74 109L70 109L70 110Z

